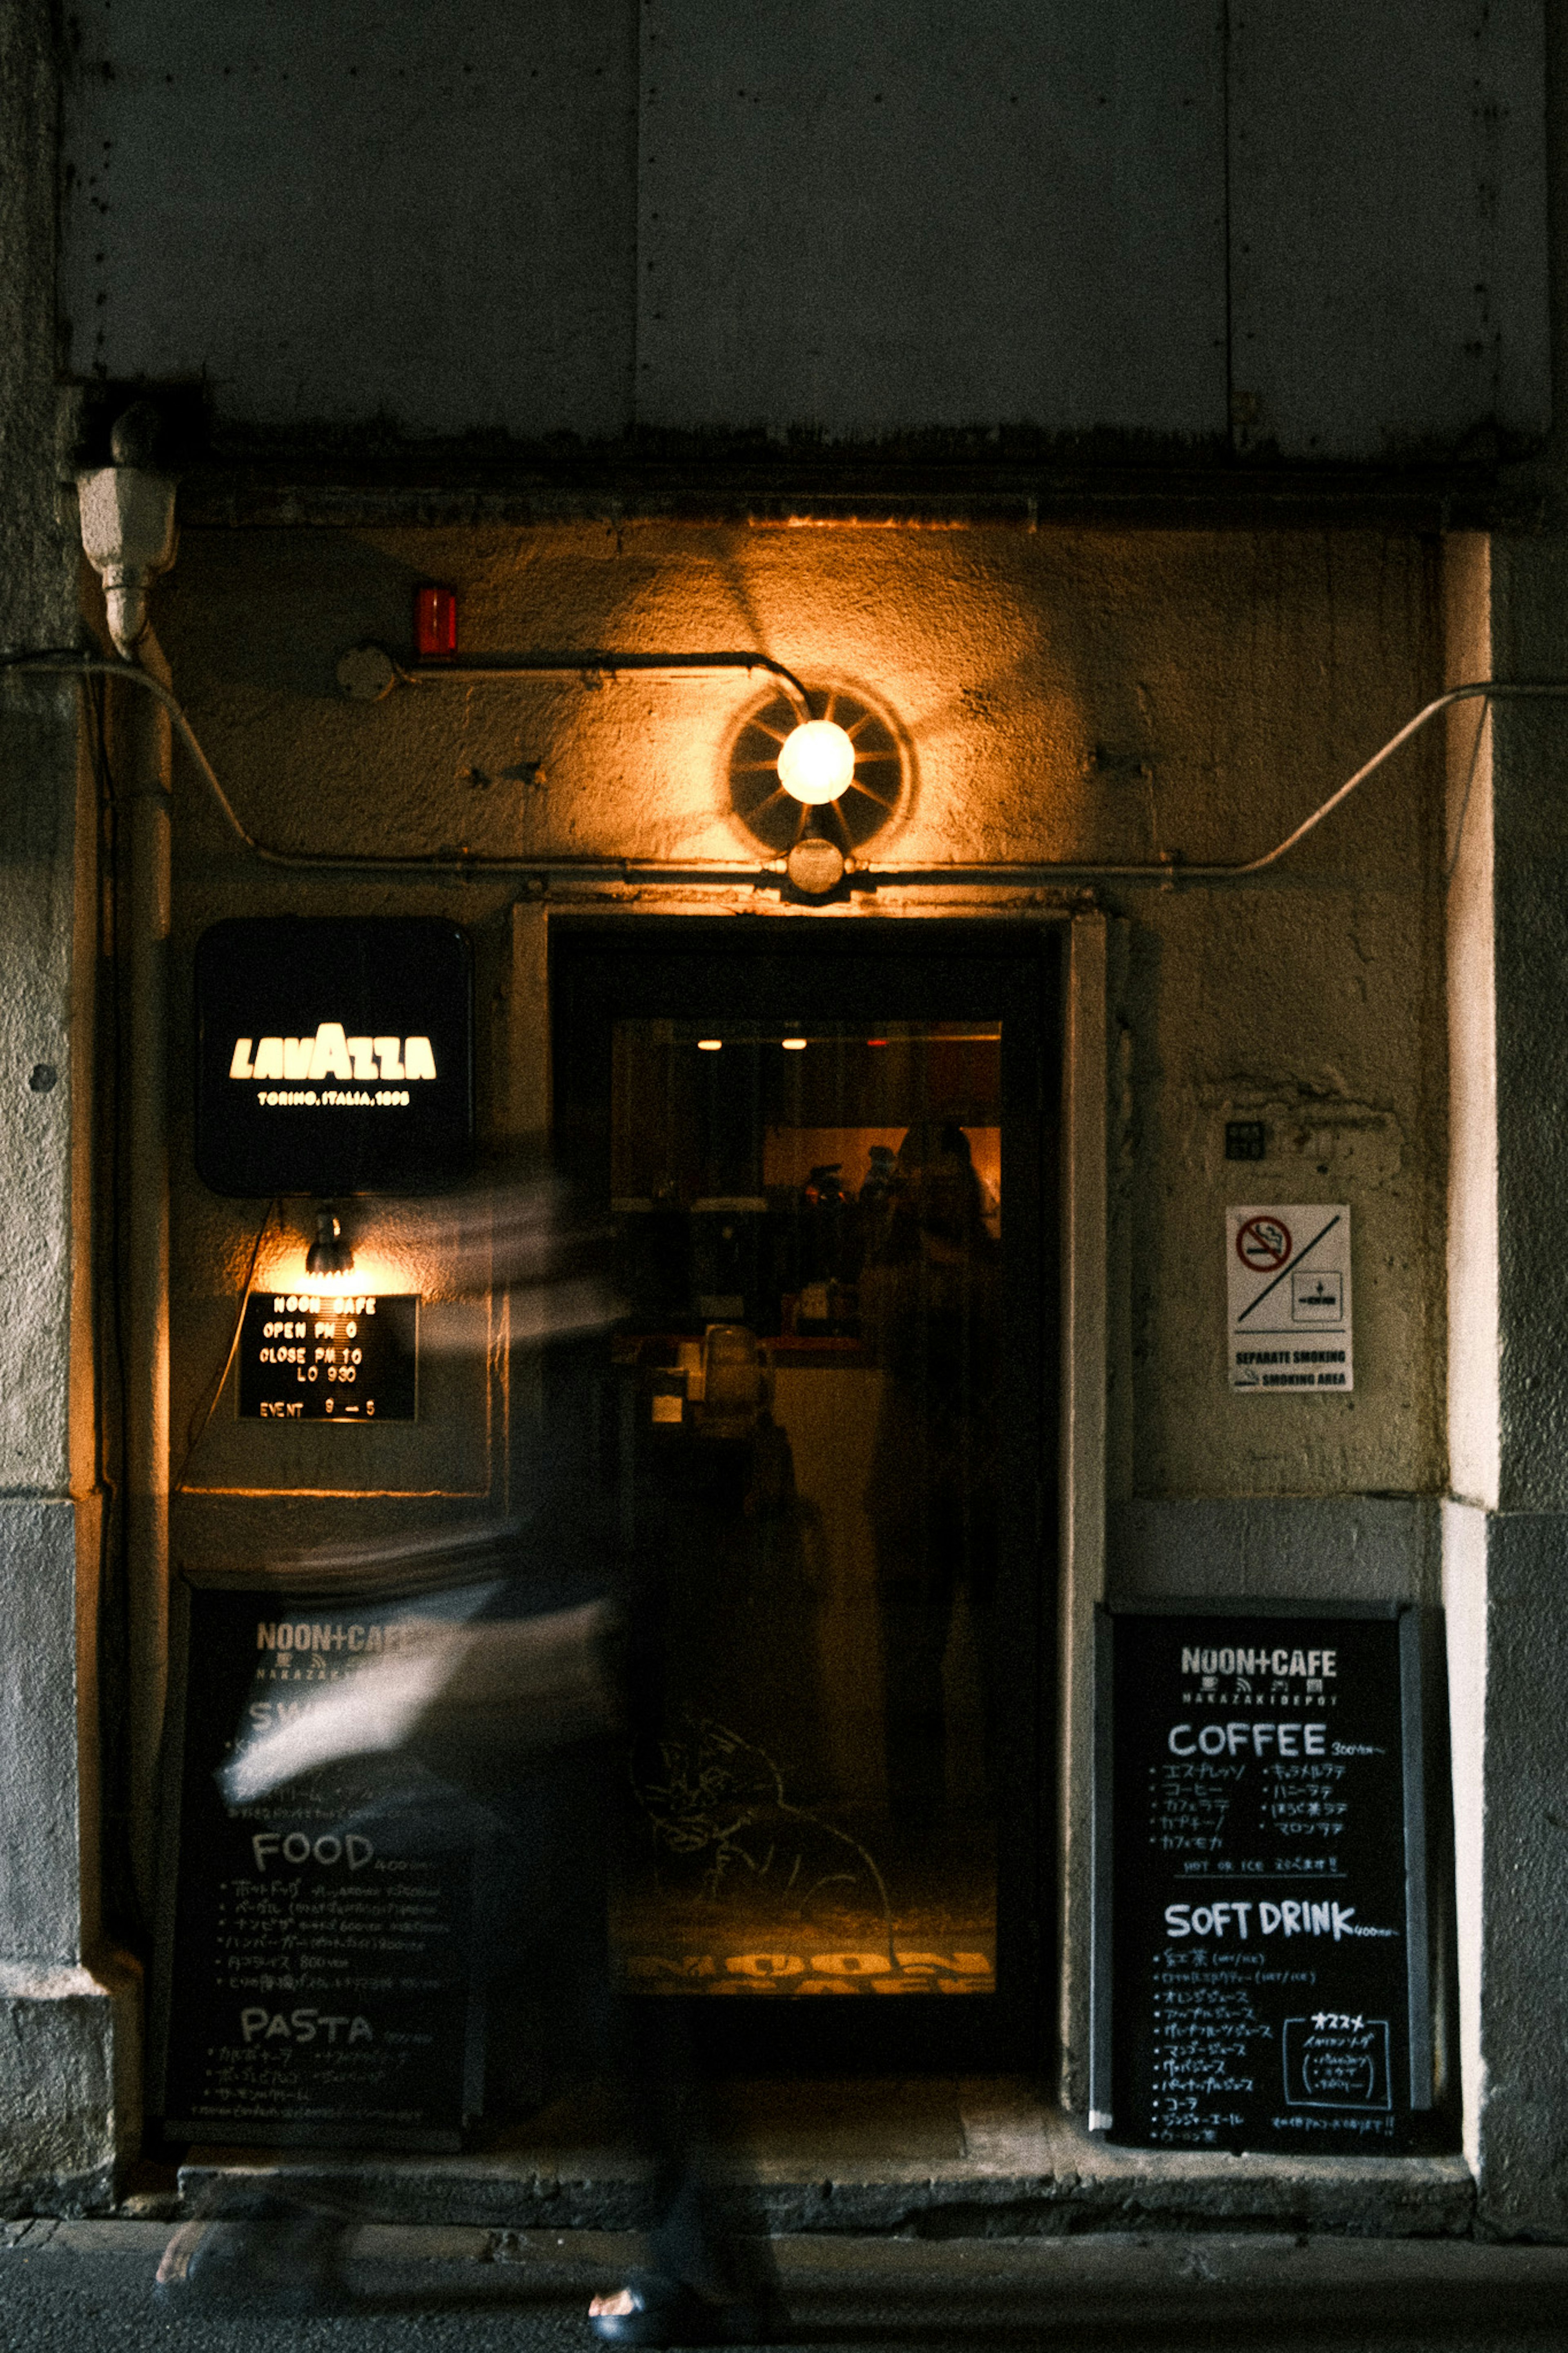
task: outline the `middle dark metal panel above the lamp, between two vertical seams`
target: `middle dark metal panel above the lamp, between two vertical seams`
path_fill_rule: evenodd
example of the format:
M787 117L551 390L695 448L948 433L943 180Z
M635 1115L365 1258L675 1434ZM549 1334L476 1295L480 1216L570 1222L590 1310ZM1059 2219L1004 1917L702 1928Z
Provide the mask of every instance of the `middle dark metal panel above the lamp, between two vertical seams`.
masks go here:
M644 0L637 414L1225 433L1194 0Z

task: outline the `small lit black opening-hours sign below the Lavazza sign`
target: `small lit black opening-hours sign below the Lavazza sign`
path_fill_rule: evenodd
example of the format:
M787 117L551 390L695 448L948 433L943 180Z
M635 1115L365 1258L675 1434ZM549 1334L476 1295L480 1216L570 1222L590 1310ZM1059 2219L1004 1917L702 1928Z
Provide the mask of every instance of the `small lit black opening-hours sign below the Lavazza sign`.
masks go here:
M418 1297L259 1292L240 1325L242 1421L416 1421Z

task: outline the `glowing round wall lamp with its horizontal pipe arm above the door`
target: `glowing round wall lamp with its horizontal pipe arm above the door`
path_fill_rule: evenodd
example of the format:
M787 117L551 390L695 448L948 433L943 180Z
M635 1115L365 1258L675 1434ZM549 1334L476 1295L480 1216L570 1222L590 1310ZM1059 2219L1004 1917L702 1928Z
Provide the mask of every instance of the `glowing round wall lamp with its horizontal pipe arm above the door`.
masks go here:
M339 661L339 685L364 704L393 687L475 685L482 678L715 678L762 673L769 699L743 722L729 751L729 798L741 824L783 859L804 899L835 892L849 861L896 816L905 800L907 760L893 722L849 687L809 689L769 654L522 654L498 661L400 664L381 645L355 645Z

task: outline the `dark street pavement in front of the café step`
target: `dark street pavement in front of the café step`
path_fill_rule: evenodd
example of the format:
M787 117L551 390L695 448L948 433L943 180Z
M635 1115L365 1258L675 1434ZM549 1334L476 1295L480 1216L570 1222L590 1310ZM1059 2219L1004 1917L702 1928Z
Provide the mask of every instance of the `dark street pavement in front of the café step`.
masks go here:
M296 2318L162 2306L169 2221L0 2224L5 2353L555 2353L585 2348L585 2299L637 2242L607 2231L364 2224L350 2308ZM1117 2233L773 2240L788 2346L943 2353L1333 2353L1566 2348L1568 2247L1472 2238Z

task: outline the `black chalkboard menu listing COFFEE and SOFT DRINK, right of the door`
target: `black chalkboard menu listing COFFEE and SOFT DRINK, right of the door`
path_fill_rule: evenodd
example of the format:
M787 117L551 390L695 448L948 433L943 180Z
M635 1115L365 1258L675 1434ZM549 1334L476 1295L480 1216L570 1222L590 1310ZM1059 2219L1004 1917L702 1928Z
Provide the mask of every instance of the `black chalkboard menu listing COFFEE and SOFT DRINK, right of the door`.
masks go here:
M1117 1609L1098 1642L1091 2122L1429 2146L1420 1614Z

